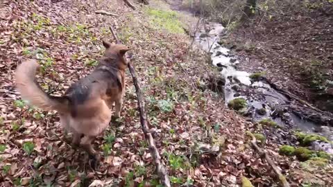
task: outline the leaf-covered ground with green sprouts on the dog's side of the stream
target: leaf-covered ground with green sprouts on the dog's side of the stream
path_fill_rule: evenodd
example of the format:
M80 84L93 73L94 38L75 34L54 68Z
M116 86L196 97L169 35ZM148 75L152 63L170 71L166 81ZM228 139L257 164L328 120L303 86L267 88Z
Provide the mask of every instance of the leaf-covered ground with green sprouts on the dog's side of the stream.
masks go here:
M202 89L219 73L207 54L189 49L183 27L195 19L163 1L134 5L137 10L120 0L1 1L0 186L158 186L128 72L121 118L94 143L103 156L96 170L85 152L67 144L71 137L64 135L56 112L28 107L15 89L17 64L35 58L42 66L37 75L42 88L63 94L96 66L101 39L113 41L109 26L133 48L130 60L173 186L241 186L244 177L254 186L278 186L271 166L251 147L248 131L264 135L259 145L291 186L332 185L332 164L280 156L279 140L266 136L280 129L246 121L219 94Z

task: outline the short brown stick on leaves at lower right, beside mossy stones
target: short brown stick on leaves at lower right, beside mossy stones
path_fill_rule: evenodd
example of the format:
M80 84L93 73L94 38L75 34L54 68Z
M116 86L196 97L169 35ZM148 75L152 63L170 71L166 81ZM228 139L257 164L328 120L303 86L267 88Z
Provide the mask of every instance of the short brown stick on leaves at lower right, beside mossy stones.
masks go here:
M261 157L264 157L266 159L267 163L273 168L275 174L278 175L282 186L289 187L290 185L289 185L286 177L284 177L284 175L282 175L278 166L275 165L275 163L272 161L271 157L269 157L266 152L264 152L262 149L259 148L259 146L257 145L257 139L255 139L255 136L253 136L253 134L250 132L248 132L248 135L251 136L251 138L252 138L251 144L253 145L255 150L257 150L257 152L259 153L259 155Z

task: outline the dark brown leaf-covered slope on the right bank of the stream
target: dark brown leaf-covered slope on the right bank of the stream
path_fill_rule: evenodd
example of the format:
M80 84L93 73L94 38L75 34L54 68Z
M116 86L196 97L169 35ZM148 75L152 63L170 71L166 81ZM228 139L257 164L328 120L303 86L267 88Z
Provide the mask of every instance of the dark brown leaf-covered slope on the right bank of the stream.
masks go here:
M237 51L239 69L265 72L279 87L333 112L332 15L329 1L281 1L222 42Z

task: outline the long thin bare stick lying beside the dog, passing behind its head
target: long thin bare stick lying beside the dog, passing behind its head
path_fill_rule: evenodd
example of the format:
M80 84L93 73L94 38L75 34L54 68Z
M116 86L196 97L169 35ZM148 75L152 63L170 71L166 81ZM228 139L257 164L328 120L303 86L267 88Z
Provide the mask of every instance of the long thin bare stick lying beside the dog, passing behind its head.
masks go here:
M117 44L120 44L121 42L119 41L117 35L115 35L112 27L110 27L110 30L111 30L111 33L112 33L114 39L116 39ZM139 114L140 114L140 123L142 126L142 131L144 132L144 137L145 137L146 141L148 142L149 151L151 152L151 155L153 156L157 175L158 175L158 177L160 177L160 180L161 180L163 186L171 187L170 179L167 174L167 170L164 168L164 165L161 161L160 153L158 152L156 145L155 145L155 140L153 138L153 134L151 134L151 130L148 127L146 112L144 111L144 97L142 96L142 91L140 89L140 85L137 80L137 76L135 75L135 70L134 70L133 66L130 64L130 62L128 62L128 69L130 69L130 75L132 75L133 83L135 86L135 92L137 93L137 105L138 105Z

